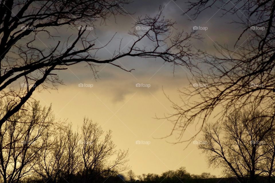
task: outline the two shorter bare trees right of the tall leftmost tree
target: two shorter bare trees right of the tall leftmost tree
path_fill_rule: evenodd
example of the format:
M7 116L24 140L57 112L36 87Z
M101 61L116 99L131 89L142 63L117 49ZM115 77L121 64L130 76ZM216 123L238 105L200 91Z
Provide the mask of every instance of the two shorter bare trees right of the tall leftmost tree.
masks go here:
M60 126L43 139L45 148L40 149L34 165L34 176L44 182L103 182L114 178L127 169L128 151L116 150L111 131L84 118L81 131L72 125ZM111 180L110 178L110 180ZM118 177L119 178L119 177ZM121 179L119 179L121 180Z

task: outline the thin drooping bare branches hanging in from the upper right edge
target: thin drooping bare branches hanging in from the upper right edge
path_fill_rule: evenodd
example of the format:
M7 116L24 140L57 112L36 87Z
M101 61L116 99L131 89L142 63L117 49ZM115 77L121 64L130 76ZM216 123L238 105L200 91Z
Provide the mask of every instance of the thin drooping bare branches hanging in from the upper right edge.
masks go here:
M275 1L189 1L188 13L197 18L202 11L217 7L224 16L232 15L231 25L243 29L237 35L231 48L226 43L213 43L217 51L207 53L199 64L203 69L196 73L190 84L199 83L206 87L182 89L182 105L172 102L175 112L167 116L174 123L178 142L186 128L200 124L201 128L214 111L220 112L220 119L234 109L261 108L268 115L275 115L275 45L274 11ZM216 30L218 31L218 30ZM226 36L226 35L225 35ZM232 39L232 38L231 38Z

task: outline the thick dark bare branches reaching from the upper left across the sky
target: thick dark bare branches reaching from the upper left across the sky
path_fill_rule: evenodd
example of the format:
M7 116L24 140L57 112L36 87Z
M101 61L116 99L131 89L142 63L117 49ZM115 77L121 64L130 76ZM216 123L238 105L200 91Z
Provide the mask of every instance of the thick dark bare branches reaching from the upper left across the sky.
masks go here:
M89 26L96 30L97 22L127 14L123 5L128 3L128 0L1 1L0 96L13 100L9 110L0 119L0 126L23 107L35 90L56 88L62 83L56 71L68 69L76 63L86 62L95 76L97 64L109 63L125 71L132 71L117 63L123 57L160 58L164 62L184 65L189 69L196 66L192 63L192 57L198 56L200 52L192 51L188 40L199 37L194 32L172 34L174 22L165 19L162 11L153 17L137 19L135 26L147 26L149 29L144 31L133 27L134 30L129 34L135 35L135 38L127 51L120 50L120 42L117 44L118 52L113 53L112 57L99 58L97 52L105 49L106 45L98 44L92 31L83 27ZM71 29L75 39L59 34L61 39L58 41L55 34L64 28ZM44 35L48 35L53 42L44 43L40 39ZM57 39L55 43L54 38ZM143 41L152 44L140 46Z

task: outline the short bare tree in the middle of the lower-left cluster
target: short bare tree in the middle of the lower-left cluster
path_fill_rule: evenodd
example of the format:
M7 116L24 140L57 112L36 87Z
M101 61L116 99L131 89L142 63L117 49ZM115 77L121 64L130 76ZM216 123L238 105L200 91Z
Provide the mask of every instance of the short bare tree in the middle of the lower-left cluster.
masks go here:
M49 131L53 131L50 129ZM63 126L48 133L44 139L46 147L38 152L34 171L45 182L72 181L81 169L80 136L72 125Z

